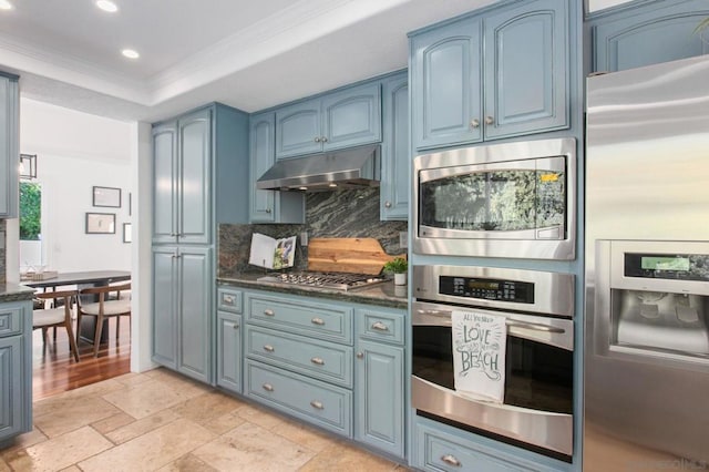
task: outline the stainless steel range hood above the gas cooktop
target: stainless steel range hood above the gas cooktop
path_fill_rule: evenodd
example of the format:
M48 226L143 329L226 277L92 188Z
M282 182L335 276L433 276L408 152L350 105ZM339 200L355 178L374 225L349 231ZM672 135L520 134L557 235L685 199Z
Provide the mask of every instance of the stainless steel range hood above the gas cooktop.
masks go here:
M256 182L267 191L336 191L379 186L379 144L277 161Z

